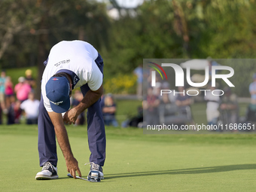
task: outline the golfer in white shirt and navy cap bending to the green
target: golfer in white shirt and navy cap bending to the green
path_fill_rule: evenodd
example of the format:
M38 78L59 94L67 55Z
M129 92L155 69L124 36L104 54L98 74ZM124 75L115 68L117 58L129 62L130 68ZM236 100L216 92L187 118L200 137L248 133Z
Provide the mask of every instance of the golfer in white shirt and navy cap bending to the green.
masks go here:
M51 48L44 65L38 116L38 152L43 169L35 178L58 178L55 136L65 157L68 172L74 178L76 172L81 176L64 122L75 123L78 115L88 108L87 134L91 152L88 178L100 181L105 162L105 126L99 105L103 92L102 57L87 42L61 41ZM70 96L75 87L81 88L84 99L75 108L69 109ZM65 113L63 117L62 113Z

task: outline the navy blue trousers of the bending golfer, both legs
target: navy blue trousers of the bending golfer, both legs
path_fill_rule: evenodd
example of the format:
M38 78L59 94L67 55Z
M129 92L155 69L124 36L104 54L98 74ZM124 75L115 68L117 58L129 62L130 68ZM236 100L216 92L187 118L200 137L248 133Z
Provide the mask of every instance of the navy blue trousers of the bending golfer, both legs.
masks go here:
M95 62L103 74L104 64L102 57L99 55ZM83 95L90 90L87 84L84 84L80 88ZM105 125L102 117L102 108L99 102L100 99L87 109L87 135L91 152L90 162L104 166L106 145ZM44 108L44 101L41 96L38 114L38 153L40 166L43 166L43 163L47 161L57 166L58 157L55 138L54 126Z

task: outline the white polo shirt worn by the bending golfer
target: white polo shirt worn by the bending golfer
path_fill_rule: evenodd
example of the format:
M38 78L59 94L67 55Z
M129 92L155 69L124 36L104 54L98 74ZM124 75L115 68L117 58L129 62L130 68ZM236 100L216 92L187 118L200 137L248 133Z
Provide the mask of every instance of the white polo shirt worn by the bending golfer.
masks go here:
M93 45L85 41L60 41L51 48L41 81L41 93L47 111L53 110L46 96L45 85L57 72L69 73L74 87L88 84L90 90L99 89L103 76L95 62L98 55Z

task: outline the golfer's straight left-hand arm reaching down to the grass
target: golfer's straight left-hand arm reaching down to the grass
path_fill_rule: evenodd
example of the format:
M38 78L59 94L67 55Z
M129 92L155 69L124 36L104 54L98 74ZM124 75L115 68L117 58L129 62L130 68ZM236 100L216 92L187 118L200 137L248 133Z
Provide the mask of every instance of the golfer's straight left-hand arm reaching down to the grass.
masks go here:
M70 174L74 178L76 178L75 171L77 171L78 175L81 177L81 172L78 167L78 161L72 154L72 150L69 144L68 133L63 123L62 114L58 114L55 112L48 112L48 114L50 116L50 120L53 122L56 138L59 142L59 147L61 148L63 156L66 160L68 172L70 172Z

